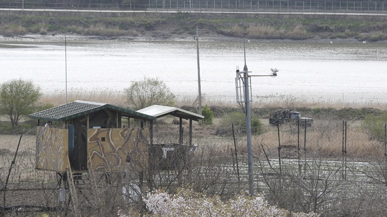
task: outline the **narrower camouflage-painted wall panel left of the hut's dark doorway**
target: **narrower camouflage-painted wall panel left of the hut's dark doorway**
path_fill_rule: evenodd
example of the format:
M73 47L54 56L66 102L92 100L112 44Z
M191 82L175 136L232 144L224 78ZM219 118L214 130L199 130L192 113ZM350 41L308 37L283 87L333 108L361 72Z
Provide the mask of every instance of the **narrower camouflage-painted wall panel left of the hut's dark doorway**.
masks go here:
M68 130L38 126L36 135L36 168L66 172Z

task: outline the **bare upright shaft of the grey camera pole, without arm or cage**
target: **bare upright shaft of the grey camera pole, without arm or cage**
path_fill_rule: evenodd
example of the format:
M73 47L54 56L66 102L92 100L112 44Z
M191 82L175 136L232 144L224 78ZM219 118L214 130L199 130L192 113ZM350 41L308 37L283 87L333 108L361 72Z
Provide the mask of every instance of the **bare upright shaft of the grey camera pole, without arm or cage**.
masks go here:
M253 155L251 147L251 117L250 117L250 93L249 93L249 72L246 65L246 47L245 39L243 38L243 49L245 53L245 66L244 71L244 82L245 82L245 104L246 104L246 134L247 134L247 161L248 161L248 172L249 172L249 193L254 196L254 180L253 180Z

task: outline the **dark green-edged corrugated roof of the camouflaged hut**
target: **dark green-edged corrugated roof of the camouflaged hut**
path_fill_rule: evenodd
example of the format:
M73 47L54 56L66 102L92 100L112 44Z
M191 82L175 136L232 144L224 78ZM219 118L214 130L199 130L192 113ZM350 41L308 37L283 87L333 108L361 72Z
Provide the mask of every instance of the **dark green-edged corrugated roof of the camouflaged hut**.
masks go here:
M30 118L46 120L46 121L64 121L64 120L69 120L82 115L90 114L96 111L100 111L106 108L120 111L122 112L123 115L127 115L129 117L148 119L148 120L156 119L156 117L139 113L130 109L121 108L118 106L105 104L105 103L88 102L88 101L82 101L82 100L76 100L64 105L56 106L54 108L50 108L44 111L30 114Z

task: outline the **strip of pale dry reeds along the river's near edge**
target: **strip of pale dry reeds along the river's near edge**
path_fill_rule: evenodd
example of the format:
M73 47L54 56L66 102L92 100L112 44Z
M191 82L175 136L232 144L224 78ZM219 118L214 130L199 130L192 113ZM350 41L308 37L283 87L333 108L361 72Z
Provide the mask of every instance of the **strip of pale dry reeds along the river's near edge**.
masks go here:
M112 104L121 107L130 107L125 99L123 91L117 91L113 89L100 90L95 89L91 91L85 91L82 89L71 89L67 94L67 101L84 100L92 102L102 102ZM265 97L252 97L251 108L375 108L380 110L387 110L387 101L379 100L364 100L364 101L351 101L345 99L333 99L333 98L310 98L306 96L295 97L292 95L280 95L280 96L265 96ZM41 97L39 104L53 104L54 106L62 105L66 103L66 94L64 91L56 91L51 93L44 93ZM178 95L175 98L176 107L181 106L198 106L197 96ZM235 102L234 98L224 96L206 96L202 97L202 105L208 106L222 106L237 108L239 104Z

